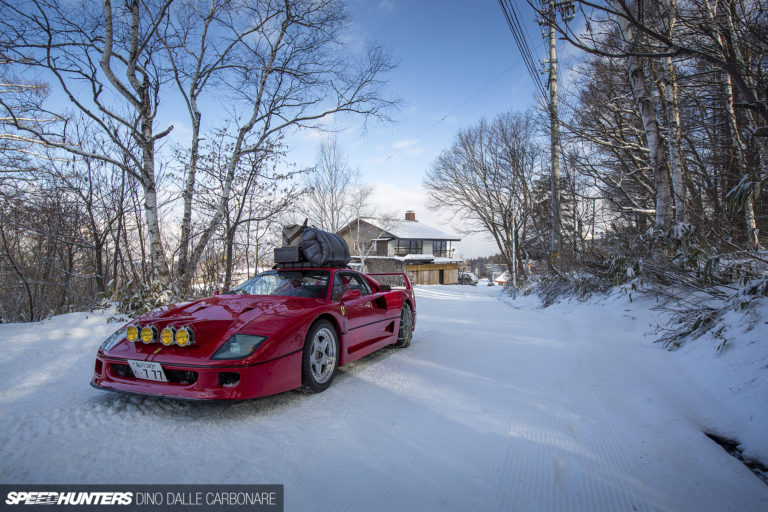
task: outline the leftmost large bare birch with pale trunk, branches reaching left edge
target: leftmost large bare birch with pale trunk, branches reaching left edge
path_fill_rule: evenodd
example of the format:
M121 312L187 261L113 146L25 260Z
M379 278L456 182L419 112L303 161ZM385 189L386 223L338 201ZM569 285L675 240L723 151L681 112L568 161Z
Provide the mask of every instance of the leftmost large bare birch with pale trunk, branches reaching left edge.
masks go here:
M155 153L172 126L155 127L166 79L157 61L157 29L170 4L0 2L0 27L12 41L9 60L49 72L69 106L99 127L100 144L90 151L73 142L65 112L51 112L61 121L56 130L40 123L15 122L15 127L48 147L124 169L141 183L150 254L163 282L170 274L160 235Z

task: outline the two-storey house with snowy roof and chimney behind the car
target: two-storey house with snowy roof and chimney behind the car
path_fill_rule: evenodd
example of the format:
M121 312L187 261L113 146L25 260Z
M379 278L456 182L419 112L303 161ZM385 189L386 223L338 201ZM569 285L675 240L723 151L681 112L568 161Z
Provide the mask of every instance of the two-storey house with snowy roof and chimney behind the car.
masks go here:
M453 242L461 238L416 220L360 217L337 233L349 245L352 261L365 262L367 272L407 272L414 284L457 284L460 259Z

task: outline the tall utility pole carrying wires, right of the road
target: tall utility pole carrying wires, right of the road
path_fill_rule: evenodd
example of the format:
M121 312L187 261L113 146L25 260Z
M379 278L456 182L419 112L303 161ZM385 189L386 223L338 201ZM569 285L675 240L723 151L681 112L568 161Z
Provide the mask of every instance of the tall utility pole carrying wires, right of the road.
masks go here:
M549 68L542 72L549 73L547 88L549 89L549 151L552 158L552 252L550 254L550 263L552 265L557 263L557 257L560 254L560 228L562 225L560 216L560 119L557 115L557 33L555 31L558 10L560 10L560 17L567 23L573 19L576 8L573 5L573 0L564 0L561 2L557 2L556 0L542 0L539 24L542 26L542 37L549 39L549 59L542 63L544 65L549 65Z

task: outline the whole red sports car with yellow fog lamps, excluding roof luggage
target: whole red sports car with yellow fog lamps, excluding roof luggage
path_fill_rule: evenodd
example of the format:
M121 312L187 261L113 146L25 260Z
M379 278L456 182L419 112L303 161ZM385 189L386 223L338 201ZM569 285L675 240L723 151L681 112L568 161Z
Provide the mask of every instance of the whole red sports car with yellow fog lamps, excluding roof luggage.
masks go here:
M407 347L415 320L405 274L275 269L231 293L130 321L98 349L91 385L193 400L323 391L338 367L387 345Z

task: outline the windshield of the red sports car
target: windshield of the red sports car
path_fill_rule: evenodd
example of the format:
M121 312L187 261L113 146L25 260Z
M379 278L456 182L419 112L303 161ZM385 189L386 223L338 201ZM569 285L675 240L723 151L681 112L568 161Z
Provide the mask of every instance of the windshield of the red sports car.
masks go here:
M273 270L264 272L236 287L242 295L281 295L324 299L330 272L327 270Z

